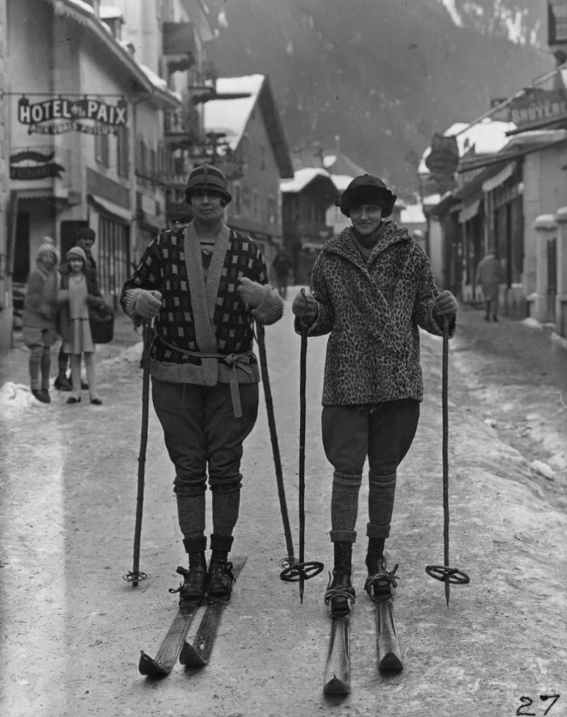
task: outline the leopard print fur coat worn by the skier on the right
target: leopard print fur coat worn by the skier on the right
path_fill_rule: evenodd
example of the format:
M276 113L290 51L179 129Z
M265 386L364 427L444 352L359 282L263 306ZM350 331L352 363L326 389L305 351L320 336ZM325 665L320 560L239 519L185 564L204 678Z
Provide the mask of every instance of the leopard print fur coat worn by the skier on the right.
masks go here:
M308 336L331 333L323 405L423 398L420 331L442 336L430 261L405 227L383 221L368 262L352 227L322 248L311 275L319 312ZM299 323L296 321L296 330ZM449 336L455 333L455 318Z

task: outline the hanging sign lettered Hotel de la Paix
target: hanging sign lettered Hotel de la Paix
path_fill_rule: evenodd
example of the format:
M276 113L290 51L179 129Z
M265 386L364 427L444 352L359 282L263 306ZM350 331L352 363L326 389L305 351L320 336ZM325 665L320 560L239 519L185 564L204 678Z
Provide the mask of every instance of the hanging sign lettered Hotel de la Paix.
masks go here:
M94 98L49 98L31 102L25 95L18 100L18 121L27 125L28 134L55 135L82 132L90 135L116 134L127 124L128 103L110 105Z

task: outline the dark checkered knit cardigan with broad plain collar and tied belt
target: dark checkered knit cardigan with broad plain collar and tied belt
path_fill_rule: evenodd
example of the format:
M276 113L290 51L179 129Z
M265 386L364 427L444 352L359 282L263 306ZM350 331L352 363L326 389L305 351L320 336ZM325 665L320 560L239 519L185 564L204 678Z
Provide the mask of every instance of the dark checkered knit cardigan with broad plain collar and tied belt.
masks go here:
M245 305L236 291L242 277L262 285L256 308ZM141 318L134 306L140 290L158 290L163 296L150 350L150 372L156 379L204 386L230 383L235 356L244 355L244 361L236 361L238 383L260 380L252 352L253 319L275 323L283 315L283 302L268 285L261 252L246 234L223 225L205 281L193 224L163 232L145 250L120 297L138 325ZM211 353L225 358L206 356Z

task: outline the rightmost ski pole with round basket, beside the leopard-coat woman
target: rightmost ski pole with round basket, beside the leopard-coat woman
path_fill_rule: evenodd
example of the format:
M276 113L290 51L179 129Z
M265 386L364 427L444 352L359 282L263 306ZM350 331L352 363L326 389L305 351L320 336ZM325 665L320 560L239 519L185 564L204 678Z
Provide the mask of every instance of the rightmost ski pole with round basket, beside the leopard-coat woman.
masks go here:
M467 584L470 578L467 574L456 568L449 567L449 401L448 401L448 374L449 374L449 320L443 316L443 362L441 380L442 402L442 460L443 460L443 559L444 565L428 565L425 571L436 580L445 583L445 601L449 607L450 586L453 584Z

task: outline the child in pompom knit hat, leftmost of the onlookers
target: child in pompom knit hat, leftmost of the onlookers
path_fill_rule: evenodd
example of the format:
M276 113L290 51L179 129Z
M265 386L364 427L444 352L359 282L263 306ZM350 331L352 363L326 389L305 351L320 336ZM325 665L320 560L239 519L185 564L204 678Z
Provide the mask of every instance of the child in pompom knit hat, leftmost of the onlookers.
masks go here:
M42 403L50 403L49 372L51 347L57 339L57 289L59 250L51 237L43 237L36 264L26 280L21 335L30 349L29 383L31 393Z

